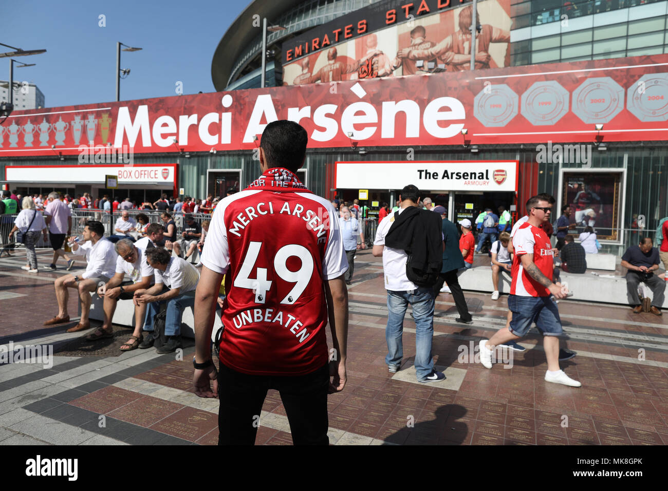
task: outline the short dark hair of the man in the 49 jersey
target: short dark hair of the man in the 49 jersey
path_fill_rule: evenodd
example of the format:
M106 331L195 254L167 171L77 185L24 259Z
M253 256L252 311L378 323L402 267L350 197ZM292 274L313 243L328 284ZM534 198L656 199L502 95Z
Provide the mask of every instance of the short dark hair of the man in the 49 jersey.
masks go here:
M279 120L265 127L260 148L265 151L269 168L283 167L291 172L301 168L306 155L309 136L301 124Z

